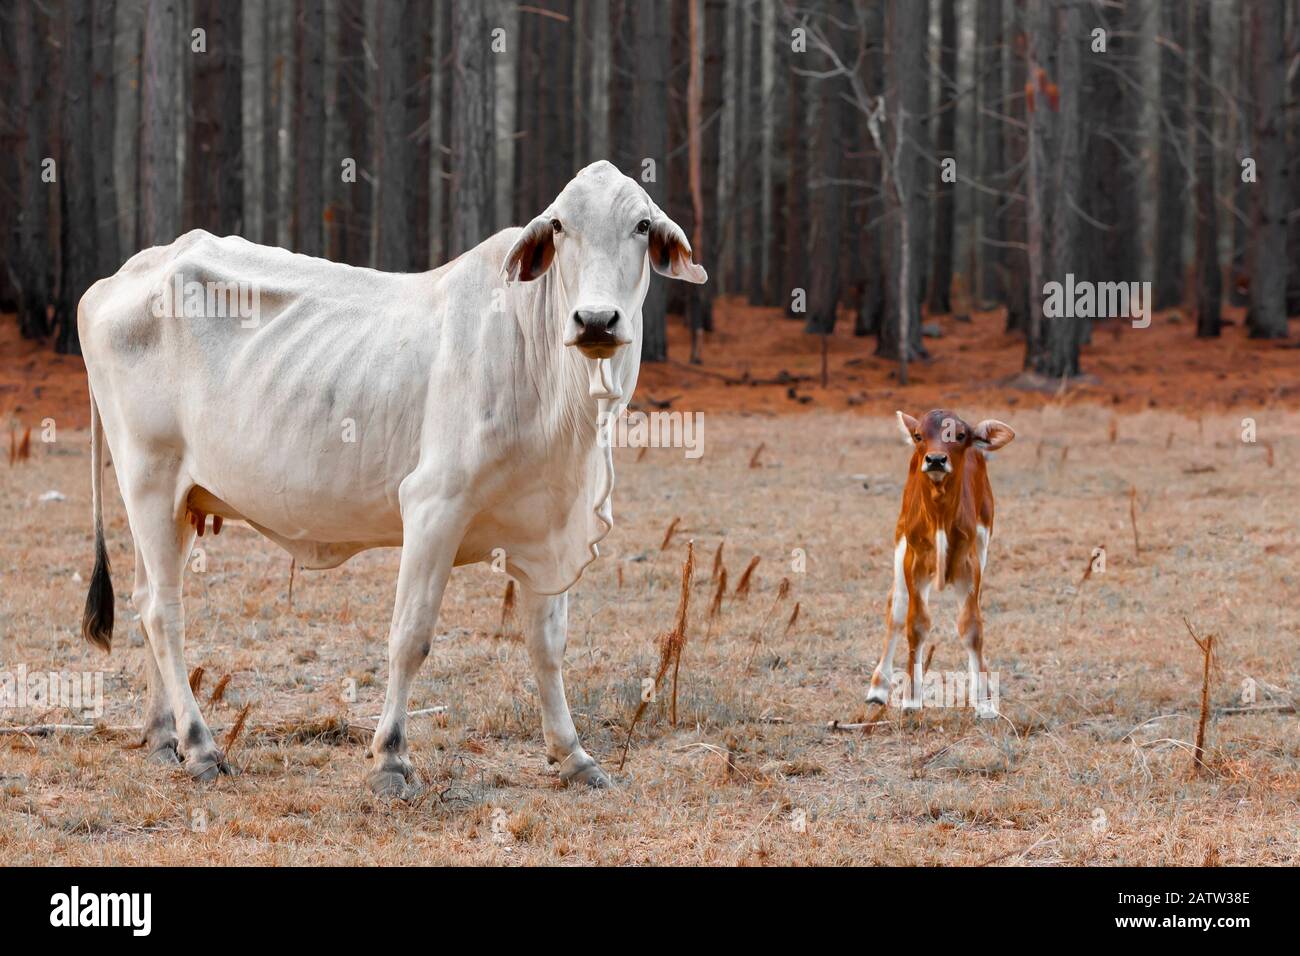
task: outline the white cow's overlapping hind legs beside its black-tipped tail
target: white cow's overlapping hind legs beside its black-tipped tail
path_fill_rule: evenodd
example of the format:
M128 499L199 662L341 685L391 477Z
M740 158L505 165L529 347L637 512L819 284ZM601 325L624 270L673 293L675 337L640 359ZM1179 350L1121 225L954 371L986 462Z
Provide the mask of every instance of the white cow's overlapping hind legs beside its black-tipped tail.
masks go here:
M153 649L150 671L151 685L161 685L170 706L174 723L168 726L162 704L155 691L150 692L146 713L146 736L151 744L165 744L176 735L186 771L196 780L214 780L220 774L231 773L225 754L212 739L212 731L199 711L199 704L190 689L185 666L185 605L181 601L181 583L185 562L194 541L194 529L186 520L185 493L174 470L166 459L144 455L125 457L134 467L118 476L122 498L135 538L135 550L143 563L144 583L136 574L134 601L140 611L144 633ZM155 683L156 680L156 683ZM153 737L150 737L151 723ZM166 754L159 758L165 761Z

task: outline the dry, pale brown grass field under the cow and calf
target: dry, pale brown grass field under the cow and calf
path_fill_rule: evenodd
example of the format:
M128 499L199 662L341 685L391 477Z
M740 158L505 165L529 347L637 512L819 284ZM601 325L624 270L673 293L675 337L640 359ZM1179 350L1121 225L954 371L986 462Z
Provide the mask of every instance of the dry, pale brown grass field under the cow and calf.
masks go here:
M144 645L116 484L118 627L105 658L78 632L92 559L86 436L35 444L0 483L0 670L103 669L104 713L96 734L0 737L0 865L1300 861L1294 710L1219 713L1242 705L1247 680L1256 706L1300 693L1300 414L956 410L1018 431L992 463L984 613L998 719L890 709L871 734L828 728L864 713L907 453L884 414L708 414L698 460L618 453L615 529L571 604L569 702L619 788L564 790L546 767L526 653L512 622L500 628L506 579L471 567L452 576L412 697L447 709L410 722L424 784L410 804L365 791L364 731L348 730L381 708L395 551L299 572L290 607L286 554L240 525L203 538L207 570L186 583L188 662L204 667L203 701L230 675L205 706L214 728L252 709L231 753L242 773L196 786L147 766L117 730L139 721ZM1247 415L1256 444L1242 441ZM42 503L52 489L66 499ZM698 571L679 722L660 688L619 771L688 540ZM723 542L731 588L710 622ZM1082 581L1096 546L1105 570ZM738 598L754 555L753 592ZM953 604L935 601L940 670L965 661ZM1184 618L1217 636L1201 774L1201 654ZM73 721L27 709L0 722Z

